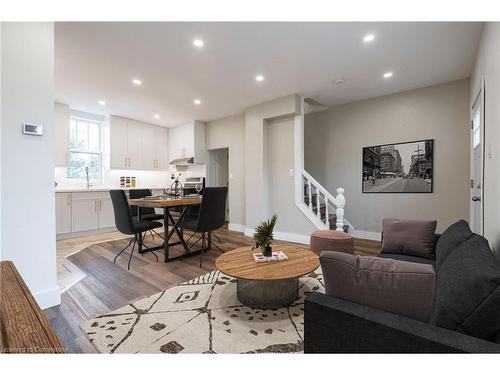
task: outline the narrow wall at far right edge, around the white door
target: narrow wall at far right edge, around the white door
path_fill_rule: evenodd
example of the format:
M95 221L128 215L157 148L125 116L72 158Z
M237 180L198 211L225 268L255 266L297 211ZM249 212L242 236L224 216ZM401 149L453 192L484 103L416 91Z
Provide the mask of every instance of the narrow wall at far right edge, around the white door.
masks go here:
M485 25L471 77L469 108L485 79L484 236L500 259L500 23Z

